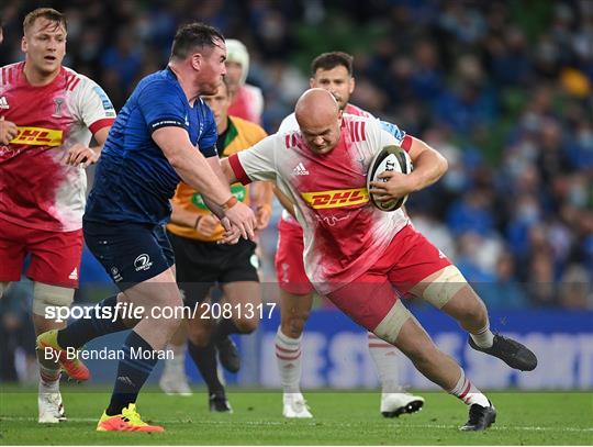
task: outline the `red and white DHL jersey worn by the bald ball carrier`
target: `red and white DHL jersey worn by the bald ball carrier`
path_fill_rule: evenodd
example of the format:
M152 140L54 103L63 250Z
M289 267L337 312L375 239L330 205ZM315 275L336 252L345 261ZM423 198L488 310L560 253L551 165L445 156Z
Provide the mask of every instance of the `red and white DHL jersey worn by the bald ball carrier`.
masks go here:
M239 181L275 181L295 204L306 276L328 293L367 271L409 223L402 210L374 208L367 191L374 154L401 144L378 120L345 114L339 143L328 154L314 154L300 131L292 131L271 135L228 161Z

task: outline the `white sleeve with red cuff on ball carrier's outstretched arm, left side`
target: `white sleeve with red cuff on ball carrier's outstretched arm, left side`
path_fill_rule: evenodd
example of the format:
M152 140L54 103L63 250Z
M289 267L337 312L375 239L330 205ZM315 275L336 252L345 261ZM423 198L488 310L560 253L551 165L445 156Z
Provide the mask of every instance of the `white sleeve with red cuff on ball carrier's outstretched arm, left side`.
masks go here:
M228 163L237 180L243 185L255 180L276 180L276 155L282 150L281 143L278 134L275 134L267 136L246 150L231 155Z

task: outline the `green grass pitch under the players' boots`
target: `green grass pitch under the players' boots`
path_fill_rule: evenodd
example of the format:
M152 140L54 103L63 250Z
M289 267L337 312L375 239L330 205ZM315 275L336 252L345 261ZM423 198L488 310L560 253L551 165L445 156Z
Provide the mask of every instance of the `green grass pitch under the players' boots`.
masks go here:
M97 433L107 390L63 387L69 421L36 423L36 393L2 387L0 445L592 445L593 394L493 392L499 416L484 433L462 433L466 406L440 392L423 394L422 412L388 420L379 393L315 391L306 399L314 420L284 420L278 391L230 390L234 414L212 414L203 390L191 398L145 390L138 410L164 434Z

